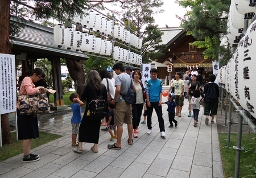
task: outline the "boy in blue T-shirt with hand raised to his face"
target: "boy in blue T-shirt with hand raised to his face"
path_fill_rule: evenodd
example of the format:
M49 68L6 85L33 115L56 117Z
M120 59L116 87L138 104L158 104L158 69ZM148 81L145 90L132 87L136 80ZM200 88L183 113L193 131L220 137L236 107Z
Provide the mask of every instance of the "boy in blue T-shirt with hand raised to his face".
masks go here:
M72 93L71 96L69 96L69 100L73 102L71 105L71 109L73 112L72 118L71 118L71 125L72 125L72 147L77 147L78 143L76 142L77 134L79 131L79 125L82 121L82 116L81 116L81 106L84 105L82 101L80 101L79 94L77 93Z

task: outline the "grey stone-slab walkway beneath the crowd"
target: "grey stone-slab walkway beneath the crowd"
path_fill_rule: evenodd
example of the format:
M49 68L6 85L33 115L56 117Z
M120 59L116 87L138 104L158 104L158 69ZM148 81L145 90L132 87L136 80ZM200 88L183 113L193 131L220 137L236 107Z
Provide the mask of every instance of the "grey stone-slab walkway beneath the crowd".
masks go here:
M166 98L163 98L163 101ZM197 127L188 115L185 99L182 117L176 128L168 128L167 105L163 105L166 138L159 132L156 113L152 115L152 133L147 135L147 125L139 125L134 144L127 143L127 126L123 125L122 149L109 150L108 131L100 131L98 153L90 151L92 143L84 143L82 154L71 147L71 116L64 113L39 119L41 131L63 135L39 146L32 153L40 160L22 163L23 154L0 162L0 178L3 177L224 177L216 123L205 125L203 109L199 113ZM143 116L142 116L143 118ZM216 121L215 121L216 122ZM101 127L104 128L104 127Z

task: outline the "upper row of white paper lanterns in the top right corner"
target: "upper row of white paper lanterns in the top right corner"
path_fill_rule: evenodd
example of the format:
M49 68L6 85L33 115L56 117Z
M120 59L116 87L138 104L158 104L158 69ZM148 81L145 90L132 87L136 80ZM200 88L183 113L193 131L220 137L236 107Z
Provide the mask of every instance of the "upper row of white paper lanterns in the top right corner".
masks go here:
M238 29L243 29L245 14L254 13L255 7L249 6L248 0L232 0L229 7L229 15L227 21L227 38L229 44L234 44L234 40L240 37Z

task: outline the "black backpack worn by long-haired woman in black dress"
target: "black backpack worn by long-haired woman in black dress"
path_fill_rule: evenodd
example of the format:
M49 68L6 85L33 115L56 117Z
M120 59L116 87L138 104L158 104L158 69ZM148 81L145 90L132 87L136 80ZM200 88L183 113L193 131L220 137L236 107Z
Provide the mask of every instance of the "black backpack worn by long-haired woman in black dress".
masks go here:
M95 92L95 89L92 87L92 85L89 85L92 89L94 99L89 103L89 110L90 110L90 119L92 121L99 121L103 119L106 116L106 101L104 100L102 93L103 93L103 86L101 89L101 93L99 96L97 96L97 93Z

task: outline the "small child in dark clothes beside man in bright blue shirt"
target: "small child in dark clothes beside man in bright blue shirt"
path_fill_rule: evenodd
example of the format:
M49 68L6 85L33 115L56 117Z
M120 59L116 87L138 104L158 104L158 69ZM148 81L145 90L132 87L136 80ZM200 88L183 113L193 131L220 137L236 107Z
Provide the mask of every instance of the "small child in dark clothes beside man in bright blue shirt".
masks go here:
M168 117L169 117L169 122L170 126L169 127L177 127L177 121L175 120L175 107L177 106L175 101L175 94L174 93L169 93L168 94L168 101L162 102L162 104L167 104L167 111L168 111ZM172 123L174 122L174 124Z

